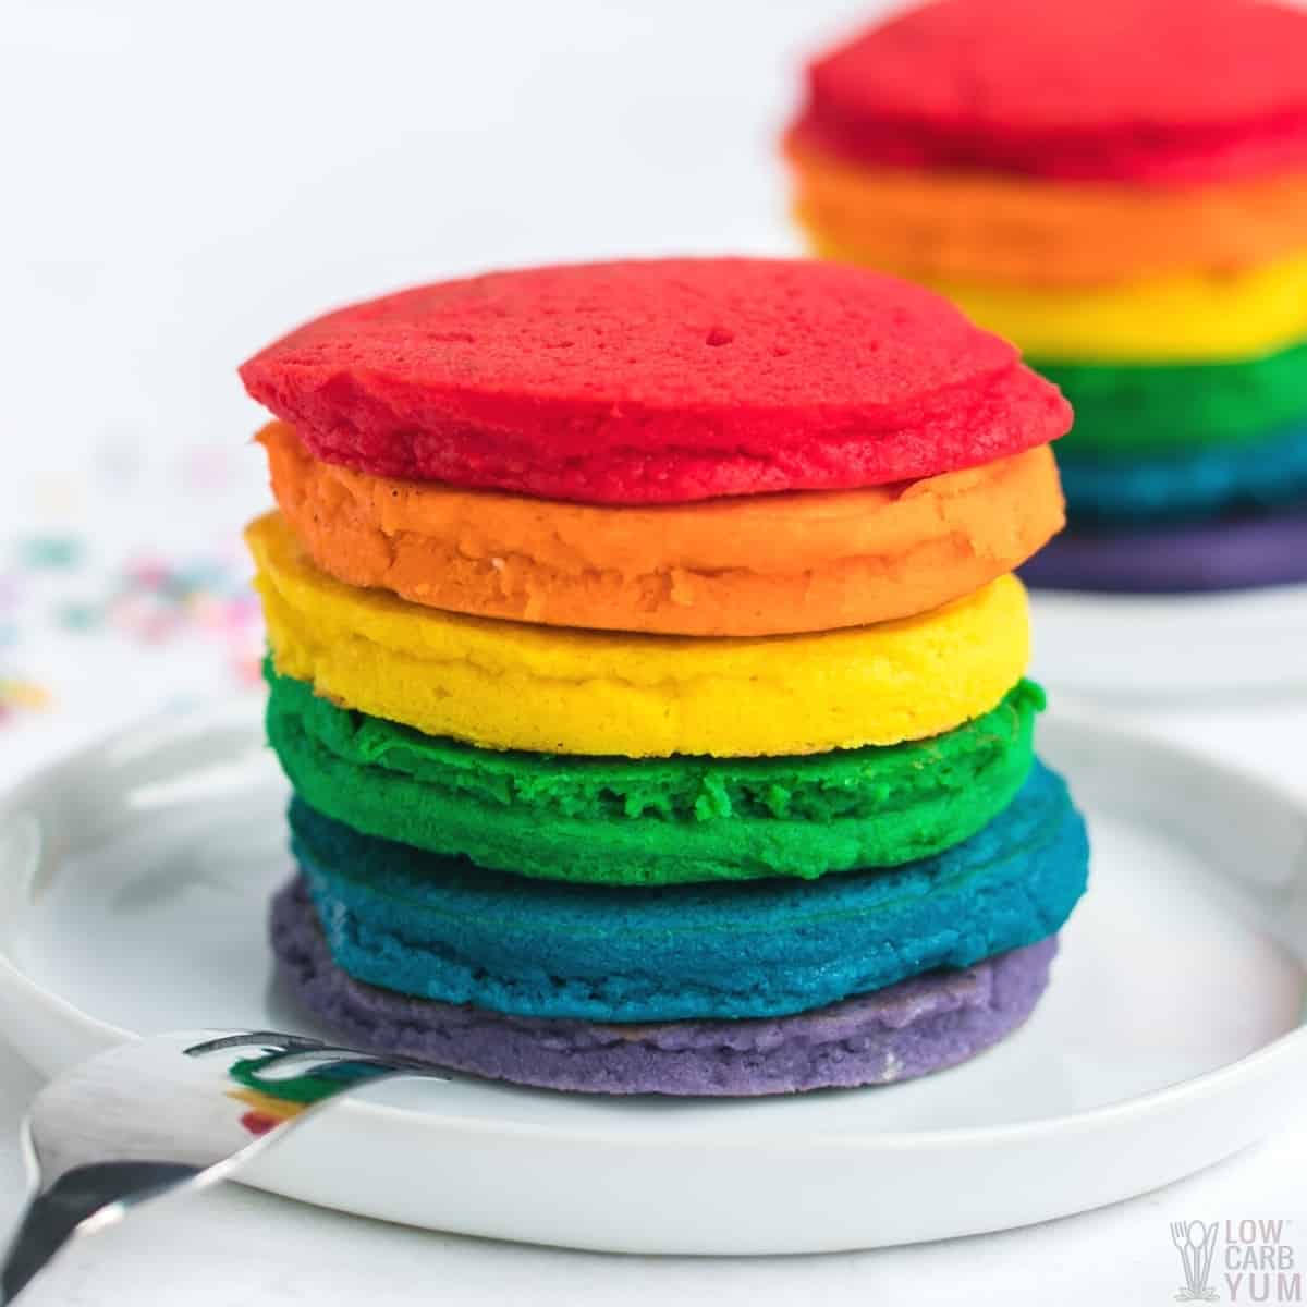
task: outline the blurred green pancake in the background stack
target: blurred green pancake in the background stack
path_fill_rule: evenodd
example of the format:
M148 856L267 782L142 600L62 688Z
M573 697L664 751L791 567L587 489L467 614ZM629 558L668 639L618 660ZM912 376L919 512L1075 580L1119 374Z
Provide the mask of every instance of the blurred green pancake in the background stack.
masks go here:
M1128 461L1249 446L1307 421L1307 344L1235 363L1030 366L1076 410L1057 446L1068 455Z

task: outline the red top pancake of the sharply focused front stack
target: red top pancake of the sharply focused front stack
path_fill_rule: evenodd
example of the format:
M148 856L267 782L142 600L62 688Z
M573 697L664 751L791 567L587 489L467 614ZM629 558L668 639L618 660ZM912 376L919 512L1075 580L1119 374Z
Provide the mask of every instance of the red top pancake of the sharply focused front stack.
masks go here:
M240 369L319 459L586 503L937 476L1070 409L946 301L835 264L491 273L328 314Z

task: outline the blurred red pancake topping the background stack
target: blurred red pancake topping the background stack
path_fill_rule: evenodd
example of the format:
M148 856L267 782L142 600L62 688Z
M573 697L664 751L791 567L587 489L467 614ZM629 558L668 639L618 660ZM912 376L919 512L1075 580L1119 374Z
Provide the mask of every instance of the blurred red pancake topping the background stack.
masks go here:
M868 163L1212 182L1307 163L1307 14L944 0L809 68L795 140Z

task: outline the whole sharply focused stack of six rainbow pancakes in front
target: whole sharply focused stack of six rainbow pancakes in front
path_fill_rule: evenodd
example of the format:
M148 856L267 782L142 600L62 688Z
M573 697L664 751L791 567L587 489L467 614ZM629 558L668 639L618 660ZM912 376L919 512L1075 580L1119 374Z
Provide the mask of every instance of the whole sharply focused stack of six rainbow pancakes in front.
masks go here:
M1010 575L1070 414L1012 346L859 269L665 260L422 286L242 376L272 938L337 1035L746 1095L1025 1021L1089 852Z

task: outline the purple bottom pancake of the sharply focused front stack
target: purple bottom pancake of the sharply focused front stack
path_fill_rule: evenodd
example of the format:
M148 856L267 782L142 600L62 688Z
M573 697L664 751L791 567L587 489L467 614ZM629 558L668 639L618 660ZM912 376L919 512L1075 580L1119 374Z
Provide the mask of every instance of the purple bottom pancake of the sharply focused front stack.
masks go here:
M273 899L272 945L301 1002L358 1048L544 1089L738 1097L885 1085L966 1061L1030 1016L1057 951L1050 937L782 1019L621 1026L507 1017L353 980L299 880Z

